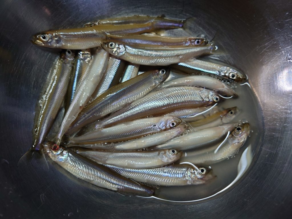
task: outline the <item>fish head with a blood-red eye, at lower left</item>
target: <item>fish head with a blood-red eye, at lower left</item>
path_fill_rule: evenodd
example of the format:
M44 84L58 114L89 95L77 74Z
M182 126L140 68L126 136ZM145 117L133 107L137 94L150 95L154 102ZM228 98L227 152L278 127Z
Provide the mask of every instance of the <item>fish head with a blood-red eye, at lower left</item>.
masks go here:
M53 161L62 162L67 159L68 151L54 142L45 142L42 145L42 153L48 155Z

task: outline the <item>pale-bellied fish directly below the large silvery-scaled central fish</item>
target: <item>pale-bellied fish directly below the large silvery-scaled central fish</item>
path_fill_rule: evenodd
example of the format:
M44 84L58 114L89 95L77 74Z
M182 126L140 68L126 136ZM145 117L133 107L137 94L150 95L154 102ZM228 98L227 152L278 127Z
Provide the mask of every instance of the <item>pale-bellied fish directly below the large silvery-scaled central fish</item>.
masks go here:
M134 121L128 121L100 130L93 130L84 135L69 138L69 143L96 144L131 140L144 135L168 130L179 125L181 122L180 119L172 116L136 119Z

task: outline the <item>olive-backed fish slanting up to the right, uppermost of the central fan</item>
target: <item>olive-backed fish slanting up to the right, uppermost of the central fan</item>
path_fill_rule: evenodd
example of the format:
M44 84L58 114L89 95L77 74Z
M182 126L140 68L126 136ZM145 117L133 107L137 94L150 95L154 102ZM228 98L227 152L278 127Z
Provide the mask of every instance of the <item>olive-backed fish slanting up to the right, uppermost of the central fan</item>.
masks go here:
M88 103L67 135L145 96L167 77L168 70L153 70L113 86Z

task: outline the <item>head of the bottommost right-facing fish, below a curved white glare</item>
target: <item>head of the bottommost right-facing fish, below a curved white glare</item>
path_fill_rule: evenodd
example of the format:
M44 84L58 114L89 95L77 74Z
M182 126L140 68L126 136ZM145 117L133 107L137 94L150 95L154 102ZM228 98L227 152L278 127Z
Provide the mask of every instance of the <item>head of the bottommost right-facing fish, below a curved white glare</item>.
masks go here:
M213 175L213 170L204 167L200 167L198 170L194 168L188 168L185 176L188 180L187 183L191 185L203 184L215 178L215 175Z

